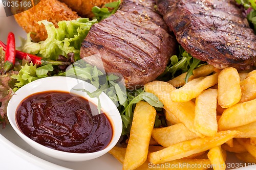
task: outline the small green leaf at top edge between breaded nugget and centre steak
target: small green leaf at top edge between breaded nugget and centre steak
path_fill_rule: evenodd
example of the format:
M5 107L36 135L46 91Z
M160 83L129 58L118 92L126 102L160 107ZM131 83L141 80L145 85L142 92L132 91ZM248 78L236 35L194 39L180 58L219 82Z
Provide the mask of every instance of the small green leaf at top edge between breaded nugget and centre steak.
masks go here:
M119 8L121 1L118 0L117 2L112 2L105 4L103 8L99 8L97 6L92 8L92 12L95 15L94 18L96 18L99 22L102 21L105 18L108 18L112 14L116 13L116 11ZM109 11L108 8L113 8L111 11Z

